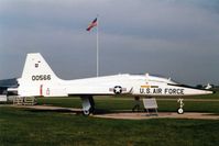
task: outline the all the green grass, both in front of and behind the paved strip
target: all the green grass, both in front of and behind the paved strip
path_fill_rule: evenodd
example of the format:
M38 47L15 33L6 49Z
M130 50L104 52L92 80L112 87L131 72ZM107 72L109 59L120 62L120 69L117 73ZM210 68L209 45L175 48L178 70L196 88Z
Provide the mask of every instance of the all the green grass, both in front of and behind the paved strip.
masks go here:
M77 97L37 101L39 104L81 108ZM130 97L96 97L95 101L97 109L107 112L131 110L134 104ZM178 108L176 101L157 100L157 103L160 112L176 112ZM219 102L185 101L184 110L218 114ZM65 111L0 105L1 146L217 146L218 135L219 121L216 120L107 120Z

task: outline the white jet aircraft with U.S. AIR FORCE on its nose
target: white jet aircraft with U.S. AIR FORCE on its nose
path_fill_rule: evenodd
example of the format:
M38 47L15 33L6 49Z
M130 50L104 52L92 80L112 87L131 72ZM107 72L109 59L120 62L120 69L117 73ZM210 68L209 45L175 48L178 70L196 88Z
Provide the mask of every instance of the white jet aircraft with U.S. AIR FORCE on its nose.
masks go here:
M212 93L212 91L182 86L171 79L150 76L149 74L124 74L62 80L53 72L40 53L28 54L22 77L18 79L18 96L20 97L79 96L83 101L83 111L86 115L89 115L95 110L94 96L183 97Z

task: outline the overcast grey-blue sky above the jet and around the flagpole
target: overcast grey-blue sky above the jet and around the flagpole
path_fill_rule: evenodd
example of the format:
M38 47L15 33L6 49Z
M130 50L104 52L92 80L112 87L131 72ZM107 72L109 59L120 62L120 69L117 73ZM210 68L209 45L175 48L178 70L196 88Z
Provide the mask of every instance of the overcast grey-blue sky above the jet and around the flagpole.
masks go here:
M0 79L41 53L63 79L145 74L219 85L219 0L0 0Z

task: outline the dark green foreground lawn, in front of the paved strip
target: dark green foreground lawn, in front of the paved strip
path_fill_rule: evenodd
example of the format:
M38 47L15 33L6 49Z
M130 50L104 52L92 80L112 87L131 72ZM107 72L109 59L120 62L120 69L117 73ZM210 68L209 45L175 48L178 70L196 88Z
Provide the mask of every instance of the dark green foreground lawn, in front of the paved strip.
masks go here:
M1 146L219 145L219 122L106 120L59 112L0 108Z

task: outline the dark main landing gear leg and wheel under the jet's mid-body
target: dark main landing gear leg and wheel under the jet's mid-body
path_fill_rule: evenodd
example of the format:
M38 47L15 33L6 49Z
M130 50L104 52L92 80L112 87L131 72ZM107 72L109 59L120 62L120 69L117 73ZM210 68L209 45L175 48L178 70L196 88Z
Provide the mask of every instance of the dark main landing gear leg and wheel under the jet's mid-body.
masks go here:
M95 101L92 96L83 96L80 97L83 101L83 113L89 115L95 112Z

